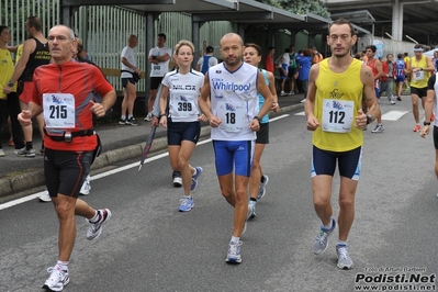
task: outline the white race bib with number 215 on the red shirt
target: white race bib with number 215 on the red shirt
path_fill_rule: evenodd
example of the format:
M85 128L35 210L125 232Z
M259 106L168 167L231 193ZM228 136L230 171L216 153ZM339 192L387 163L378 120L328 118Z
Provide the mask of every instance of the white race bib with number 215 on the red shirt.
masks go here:
M43 113L46 127L75 127L75 97L69 93L44 93Z

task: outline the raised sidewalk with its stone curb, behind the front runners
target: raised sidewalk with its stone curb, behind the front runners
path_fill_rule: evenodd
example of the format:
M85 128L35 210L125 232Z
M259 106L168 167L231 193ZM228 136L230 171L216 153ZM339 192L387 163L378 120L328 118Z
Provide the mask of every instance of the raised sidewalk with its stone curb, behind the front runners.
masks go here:
M279 97L280 112L270 115L278 115L296 108L302 108L303 93ZM114 119L113 119L114 120ZM104 167L115 165L123 160L141 158L147 135L150 132L150 122L137 119L138 126L119 125L116 122L99 124L94 127L102 141L103 151L96 159L91 167L91 175ZM210 137L210 126L204 123L201 130L201 137ZM41 148L41 136L34 132L33 145L37 151ZM44 189L43 156L35 158L18 157L13 147L3 144L5 157L0 157L0 203L12 198L19 198L31 191ZM166 128L158 127L150 154L164 150L167 147Z

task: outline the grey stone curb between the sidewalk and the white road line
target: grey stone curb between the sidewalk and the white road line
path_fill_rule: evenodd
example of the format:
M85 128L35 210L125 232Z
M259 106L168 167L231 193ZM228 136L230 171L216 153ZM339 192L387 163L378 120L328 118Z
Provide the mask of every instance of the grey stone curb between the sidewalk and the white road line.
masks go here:
M290 112L292 110L303 108L303 103L293 104L289 106L281 108L278 113L270 112L269 116L277 116L284 112ZM210 135L210 126L201 127L200 138L204 138ZM104 167L112 166L123 160L128 160L133 158L139 158L145 144L135 144L126 147L122 147L115 150L110 150L102 153L91 166L91 171L97 171ZM167 148L167 136L154 139L153 146L150 148L150 154L158 153ZM9 195L16 194L19 192L24 192L34 188L43 188L45 184L43 167L37 170L29 171L11 178L0 179L0 199ZM23 194L25 195L25 194Z

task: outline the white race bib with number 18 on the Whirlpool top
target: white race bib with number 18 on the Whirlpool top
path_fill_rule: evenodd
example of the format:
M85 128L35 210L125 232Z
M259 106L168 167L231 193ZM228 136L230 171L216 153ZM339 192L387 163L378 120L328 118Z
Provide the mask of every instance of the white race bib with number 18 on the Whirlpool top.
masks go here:
M248 127L249 123L246 117L245 106L234 105L228 102L218 104L217 116L222 123L220 128L226 132L240 132Z

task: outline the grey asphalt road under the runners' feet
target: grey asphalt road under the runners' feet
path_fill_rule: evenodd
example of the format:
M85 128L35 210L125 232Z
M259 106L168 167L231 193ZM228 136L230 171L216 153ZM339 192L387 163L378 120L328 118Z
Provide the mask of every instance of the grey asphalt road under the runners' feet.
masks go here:
M408 111L411 102L381 105L384 113ZM339 270L337 231L325 254L314 256L311 250L319 222L312 204L311 133L297 112L270 126L270 145L262 157L268 192L242 237L240 265L225 263L233 209L221 195L212 145L205 143L192 157L192 165L204 172L193 191L195 206L188 213L178 212L182 190L171 186L167 157L150 160L141 171L134 167L94 177L85 199L96 207L110 207L113 217L93 242L86 239L86 221L77 220L70 283L64 291L350 292L362 291L355 283L358 277L388 279L400 273L430 277L423 285L436 284L431 276L438 262L438 200L431 137L422 139L412 132L411 112L384 121L382 134L364 133L356 220L348 240L355 268ZM120 166L131 162L137 161ZM335 216L338 186L336 175ZM0 222L0 291L42 291L46 269L57 259L58 224L52 204L32 200L4 209ZM382 290L397 283L377 284ZM400 284L413 285L403 291L420 285Z

